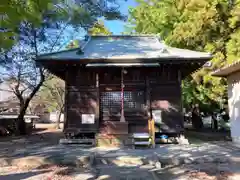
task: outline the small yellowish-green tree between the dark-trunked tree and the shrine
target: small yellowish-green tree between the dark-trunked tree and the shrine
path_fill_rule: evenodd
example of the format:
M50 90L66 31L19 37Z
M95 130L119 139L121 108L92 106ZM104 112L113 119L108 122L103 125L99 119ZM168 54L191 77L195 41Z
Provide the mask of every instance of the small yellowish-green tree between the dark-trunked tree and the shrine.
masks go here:
M60 128L61 114L64 111L65 85L64 81L56 76L50 76L40 89L38 96L49 107L49 111L57 111L57 128Z

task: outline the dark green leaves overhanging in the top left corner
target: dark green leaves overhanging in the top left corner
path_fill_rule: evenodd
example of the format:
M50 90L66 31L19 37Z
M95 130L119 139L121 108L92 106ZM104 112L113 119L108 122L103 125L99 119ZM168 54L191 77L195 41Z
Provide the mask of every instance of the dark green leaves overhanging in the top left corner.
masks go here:
M1 0L0 2L0 48L11 48L18 40L18 27L28 21L39 27L43 13L53 9L52 0Z

